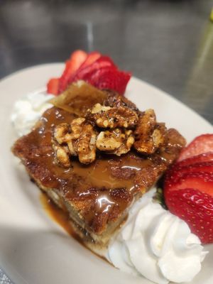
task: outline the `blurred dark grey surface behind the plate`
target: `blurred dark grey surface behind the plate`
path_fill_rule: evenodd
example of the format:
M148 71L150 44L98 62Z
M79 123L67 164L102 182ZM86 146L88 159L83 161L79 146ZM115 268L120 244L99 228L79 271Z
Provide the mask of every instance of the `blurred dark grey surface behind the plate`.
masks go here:
M1 0L0 78L99 50L213 123L207 0Z

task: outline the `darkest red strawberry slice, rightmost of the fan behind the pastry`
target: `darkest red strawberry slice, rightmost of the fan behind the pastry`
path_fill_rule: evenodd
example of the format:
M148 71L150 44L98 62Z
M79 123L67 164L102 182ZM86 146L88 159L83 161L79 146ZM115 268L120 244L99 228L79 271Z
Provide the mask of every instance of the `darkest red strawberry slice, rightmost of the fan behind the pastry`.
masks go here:
M131 73L119 70L105 70L99 75L94 87L99 89L113 89L119 94L124 94L126 85L131 78Z

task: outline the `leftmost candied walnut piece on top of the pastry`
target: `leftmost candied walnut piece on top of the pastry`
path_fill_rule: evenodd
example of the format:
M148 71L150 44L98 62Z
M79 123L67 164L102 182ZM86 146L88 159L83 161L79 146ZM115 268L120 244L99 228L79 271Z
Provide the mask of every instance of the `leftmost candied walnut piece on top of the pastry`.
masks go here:
M71 165L68 163L69 155L78 155L81 163L92 163L96 158L96 136L92 125L81 117L73 119L71 124L55 126L53 148L58 163L65 167ZM66 158L65 153L67 154Z

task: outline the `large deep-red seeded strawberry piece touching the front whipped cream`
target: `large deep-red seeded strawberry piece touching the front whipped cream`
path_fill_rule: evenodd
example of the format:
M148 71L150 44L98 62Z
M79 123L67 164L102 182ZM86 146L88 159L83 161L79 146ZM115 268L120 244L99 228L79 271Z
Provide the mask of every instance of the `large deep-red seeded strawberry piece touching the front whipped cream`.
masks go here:
M170 212L187 222L203 244L212 243L213 174L183 173L176 178L173 174L165 183L165 204Z

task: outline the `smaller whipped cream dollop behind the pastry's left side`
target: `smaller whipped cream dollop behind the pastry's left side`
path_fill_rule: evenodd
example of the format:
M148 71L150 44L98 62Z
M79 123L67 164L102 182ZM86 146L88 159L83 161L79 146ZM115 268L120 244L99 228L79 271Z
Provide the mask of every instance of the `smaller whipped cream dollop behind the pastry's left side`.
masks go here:
M34 92L16 101L11 121L18 136L29 133L43 112L53 107L53 104L48 103L53 97L53 94L46 92Z

